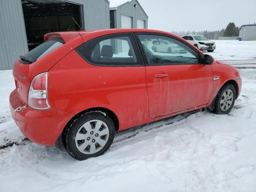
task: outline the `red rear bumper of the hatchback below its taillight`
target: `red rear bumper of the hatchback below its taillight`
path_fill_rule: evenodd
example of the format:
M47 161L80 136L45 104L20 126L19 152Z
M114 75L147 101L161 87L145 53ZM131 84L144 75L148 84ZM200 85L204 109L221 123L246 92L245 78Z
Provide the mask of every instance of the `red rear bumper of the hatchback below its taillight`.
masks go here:
M20 111L15 110L22 106L16 90L14 90L10 94L12 118L24 136L32 142L41 145L55 145L58 136L60 136L68 121L74 116L74 114L56 108L35 110L26 107Z

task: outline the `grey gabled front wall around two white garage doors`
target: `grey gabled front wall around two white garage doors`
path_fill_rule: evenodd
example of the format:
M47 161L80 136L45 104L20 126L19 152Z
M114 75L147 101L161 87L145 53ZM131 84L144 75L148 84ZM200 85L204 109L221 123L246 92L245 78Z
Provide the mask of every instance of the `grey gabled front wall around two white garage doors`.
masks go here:
M137 4L137 7L134 7L134 4ZM148 28L148 16L144 13L136 0L132 0L131 2L123 4L117 8L117 28L121 28L121 15L132 17L132 28L137 28L137 19L144 20L145 28Z

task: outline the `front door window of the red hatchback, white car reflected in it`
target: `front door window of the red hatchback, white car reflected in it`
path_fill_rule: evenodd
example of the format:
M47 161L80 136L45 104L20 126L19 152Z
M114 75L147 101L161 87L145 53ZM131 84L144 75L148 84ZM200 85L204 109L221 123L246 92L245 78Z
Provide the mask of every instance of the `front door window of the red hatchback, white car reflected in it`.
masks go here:
M139 34L138 37L149 65L199 63L198 52L179 40L151 34Z

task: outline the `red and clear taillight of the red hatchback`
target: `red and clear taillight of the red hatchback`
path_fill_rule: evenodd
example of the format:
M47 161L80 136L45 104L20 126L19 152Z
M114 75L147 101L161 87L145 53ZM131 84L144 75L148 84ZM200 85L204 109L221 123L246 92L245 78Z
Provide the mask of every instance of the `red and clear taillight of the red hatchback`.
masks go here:
M43 110L50 108L47 99L48 72L35 76L28 91L28 106L33 109Z

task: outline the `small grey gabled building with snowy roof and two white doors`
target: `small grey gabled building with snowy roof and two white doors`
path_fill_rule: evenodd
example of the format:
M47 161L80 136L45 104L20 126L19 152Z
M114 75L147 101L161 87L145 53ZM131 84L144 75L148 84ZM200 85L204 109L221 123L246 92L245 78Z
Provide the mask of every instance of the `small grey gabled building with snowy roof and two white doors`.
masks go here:
M118 4L118 2L120 2ZM114 14L114 21L111 20L111 12ZM131 27L122 27L122 17L131 18ZM138 28L137 23L144 21L144 28L148 28L148 15L140 6L137 0L110 0L110 28Z

